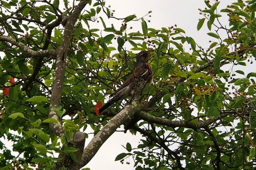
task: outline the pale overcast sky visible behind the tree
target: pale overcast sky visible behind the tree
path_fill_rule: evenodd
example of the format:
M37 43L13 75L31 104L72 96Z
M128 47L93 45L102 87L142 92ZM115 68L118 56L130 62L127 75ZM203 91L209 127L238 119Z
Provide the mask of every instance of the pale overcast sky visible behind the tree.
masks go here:
M214 1L211 1L214 2ZM228 3L234 2L230 0L220 1L220 8L225 8ZM177 27L185 30L186 35L193 37L196 42L202 47L207 48L210 44L209 40L211 37L206 35L210 32L207 27L203 26L200 31L197 31L197 23L199 18L203 18L199 14L199 8L204 9L205 4L203 0L108 0L106 1L106 6L111 6L112 10L115 10L114 16L116 17L126 17L128 15L135 14L137 17L142 17L147 14L148 11L152 11L151 17L146 17L150 19L151 22L147 22L148 28L160 29L162 27L171 27L177 25ZM227 18L227 17L225 17ZM119 22L114 19L105 20L108 26L113 23L114 25ZM226 22L227 23L227 22ZM129 22L129 27L133 27L133 31L141 31L140 22ZM214 31L214 28L212 29ZM98 153L94 158L85 166L89 167L91 170L104 169L122 169L122 170L132 170L134 161L132 158L124 161L121 164L120 161L114 161L115 157L122 153L127 152L122 145L126 145L126 142L130 142L132 147L137 147L139 144L141 136L138 134L136 136L131 135L129 132L115 132L99 149ZM86 145L89 143L90 139L87 139ZM130 164L126 164L130 162Z

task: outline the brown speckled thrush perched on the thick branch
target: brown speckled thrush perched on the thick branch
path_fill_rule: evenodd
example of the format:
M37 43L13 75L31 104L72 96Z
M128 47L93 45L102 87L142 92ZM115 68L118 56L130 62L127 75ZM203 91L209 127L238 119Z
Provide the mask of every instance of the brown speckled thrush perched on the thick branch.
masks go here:
M148 57L153 49L142 51L136 55L136 68L130 77L123 82L123 84L110 95L111 100L99 108L99 113L109 108L115 102L133 97L135 93L141 93L143 89L150 86L153 82L153 71Z

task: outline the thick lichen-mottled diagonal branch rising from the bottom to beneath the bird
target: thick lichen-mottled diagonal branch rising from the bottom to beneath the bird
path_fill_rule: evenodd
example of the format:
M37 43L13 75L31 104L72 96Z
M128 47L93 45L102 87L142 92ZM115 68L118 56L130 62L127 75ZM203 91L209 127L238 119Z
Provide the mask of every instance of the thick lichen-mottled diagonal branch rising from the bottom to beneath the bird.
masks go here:
M134 100L131 105L127 105L117 115L115 115L108 124L106 124L90 141L82 154L80 167L86 165L93 156L98 152L101 145L108 139L116 129L126 122L129 122L135 113L140 111L137 100Z

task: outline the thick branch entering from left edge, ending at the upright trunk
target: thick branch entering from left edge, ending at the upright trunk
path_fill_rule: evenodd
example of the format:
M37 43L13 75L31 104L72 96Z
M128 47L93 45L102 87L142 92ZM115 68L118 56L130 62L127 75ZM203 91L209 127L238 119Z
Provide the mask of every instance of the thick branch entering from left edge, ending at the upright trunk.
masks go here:
M26 52L32 58L40 58L40 57L47 57L47 56L56 56L56 50L43 50L43 51L34 51L31 50L28 46L24 43L18 42L15 39L9 36L0 36L0 41L10 42L12 45L15 45Z

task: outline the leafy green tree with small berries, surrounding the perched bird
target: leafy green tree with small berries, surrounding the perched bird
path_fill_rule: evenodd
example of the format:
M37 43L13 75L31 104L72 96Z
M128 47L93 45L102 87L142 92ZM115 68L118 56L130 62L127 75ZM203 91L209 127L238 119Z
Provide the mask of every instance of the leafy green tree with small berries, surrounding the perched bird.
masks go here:
M216 40L207 49L177 26L148 28L149 14L118 18L101 0L61 3L1 1L0 134L19 153L1 142L2 169L79 169L121 125L142 134L116 157L132 157L136 169L254 169L256 73L238 67L255 62L254 1L221 10L205 1L197 29L206 25ZM219 20L226 14L229 25ZM123 23L107 27L104 16ZM142 31L129 29L134 22ZM149 48L153 85L96 115ZM84 148L88 127L95 136Z

